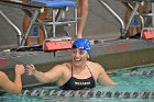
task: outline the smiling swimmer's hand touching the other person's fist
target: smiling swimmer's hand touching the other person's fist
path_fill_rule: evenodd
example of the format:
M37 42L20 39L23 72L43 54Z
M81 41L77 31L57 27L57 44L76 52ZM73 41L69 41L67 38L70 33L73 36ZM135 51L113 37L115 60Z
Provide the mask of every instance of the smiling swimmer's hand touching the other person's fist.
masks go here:
M28 76L34 75L35 71L36 71L36 69L35 69L35 67L34 67L34 65L31 64L31 65L26 65L26 66L25 66L25 73L26 73Z

